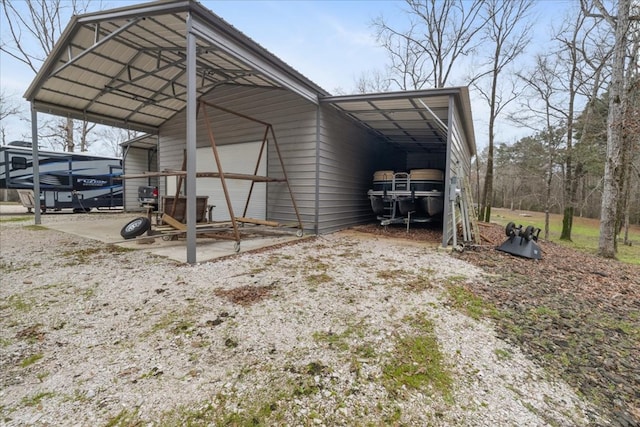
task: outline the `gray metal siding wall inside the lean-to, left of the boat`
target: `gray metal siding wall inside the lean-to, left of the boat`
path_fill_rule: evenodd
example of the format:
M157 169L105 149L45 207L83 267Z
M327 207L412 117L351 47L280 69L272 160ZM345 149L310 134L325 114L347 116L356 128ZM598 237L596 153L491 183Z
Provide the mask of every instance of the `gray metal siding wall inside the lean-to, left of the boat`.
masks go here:
M320 118L318 231L326 233L374 219L367 191L386 147L330 106Z

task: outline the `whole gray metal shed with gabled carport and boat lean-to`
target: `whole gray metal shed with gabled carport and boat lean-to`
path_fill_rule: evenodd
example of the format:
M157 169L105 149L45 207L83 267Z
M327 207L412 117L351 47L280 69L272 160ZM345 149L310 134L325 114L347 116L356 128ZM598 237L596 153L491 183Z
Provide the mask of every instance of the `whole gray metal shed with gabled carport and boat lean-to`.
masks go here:
M405 167L435 162L448 187L453 176L468 174L475 155L467 88L332 97L192 0L73 17L25 98L35 142L40 111L156 135L159 170L179 167L186 152L190 263L196 153L208 144L200 100L273 126L300 216L314 233L370 221L366 191L390 158ZM221 145L259 134L224 112L211 121ZM269 175L278 174L275 156L268 151ZM268 218L293 218L281 187L267 184L266 198Z

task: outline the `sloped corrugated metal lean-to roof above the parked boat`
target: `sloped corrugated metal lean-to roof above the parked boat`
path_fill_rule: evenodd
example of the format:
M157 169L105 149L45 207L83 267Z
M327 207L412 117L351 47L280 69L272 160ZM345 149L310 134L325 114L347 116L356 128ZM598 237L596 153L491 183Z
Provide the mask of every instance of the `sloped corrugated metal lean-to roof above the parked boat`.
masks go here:
M460 127L471 155L476 154L469 91L466 87L403 91L321 99L374 133L408 152L444 151L449 98L460 113Z

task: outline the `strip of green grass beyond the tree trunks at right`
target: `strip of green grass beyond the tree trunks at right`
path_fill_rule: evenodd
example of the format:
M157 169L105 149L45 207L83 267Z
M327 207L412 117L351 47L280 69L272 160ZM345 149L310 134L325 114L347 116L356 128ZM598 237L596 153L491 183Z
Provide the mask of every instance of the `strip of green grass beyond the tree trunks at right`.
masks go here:
M544 238L544 213L526 212L527 216L521 216L522 211L511 211L509 209L493 209L491 222L506 226L509 222L516 225L533 225L540 228L540 238ZM549 215L549 240L560 245L573 248L581 252L596 254L598 251L598 240L600 238L600 221L593 218L573 218L571 227L571 241L560 240L562 233L562 215ZM628 264L640 265L640 227L633 226L629 229L629 240L632 246L625 246L622 241L618 243L617 258Z

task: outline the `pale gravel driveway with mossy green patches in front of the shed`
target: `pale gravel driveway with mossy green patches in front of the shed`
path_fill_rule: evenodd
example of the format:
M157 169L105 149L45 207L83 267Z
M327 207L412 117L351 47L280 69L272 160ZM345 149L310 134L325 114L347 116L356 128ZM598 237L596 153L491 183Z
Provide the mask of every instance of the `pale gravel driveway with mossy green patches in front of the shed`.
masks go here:
M604 424L452 307L488 278L433 246L346 231L187 266L10 219L5 425Z

